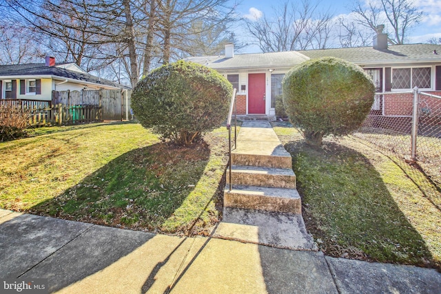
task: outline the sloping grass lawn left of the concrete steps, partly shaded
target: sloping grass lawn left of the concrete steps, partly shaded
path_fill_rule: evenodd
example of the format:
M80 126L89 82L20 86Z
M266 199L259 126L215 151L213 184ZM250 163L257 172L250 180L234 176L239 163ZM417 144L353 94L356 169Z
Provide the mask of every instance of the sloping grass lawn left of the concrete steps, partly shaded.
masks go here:
M136 123L34 129L0 143L0 208L114 227L207 233L218 221L225 127L194 147Z

